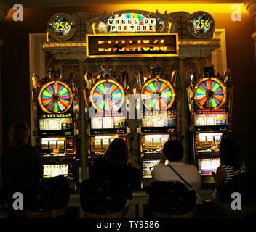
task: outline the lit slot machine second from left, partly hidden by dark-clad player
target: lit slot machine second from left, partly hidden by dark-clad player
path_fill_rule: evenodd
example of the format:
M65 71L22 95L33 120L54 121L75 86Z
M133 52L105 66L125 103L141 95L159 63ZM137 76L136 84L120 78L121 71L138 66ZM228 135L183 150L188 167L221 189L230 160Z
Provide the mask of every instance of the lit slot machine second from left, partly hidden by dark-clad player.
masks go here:
M119 77L108 63L101 66L97 78L85 75L86 115L89 135L89 173L97 157L105 154L108 145L115 138L122 138L128 144L127 96L124 91L127 75ZM123 87L124 86L124 87Z

